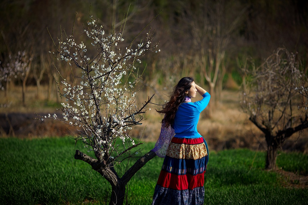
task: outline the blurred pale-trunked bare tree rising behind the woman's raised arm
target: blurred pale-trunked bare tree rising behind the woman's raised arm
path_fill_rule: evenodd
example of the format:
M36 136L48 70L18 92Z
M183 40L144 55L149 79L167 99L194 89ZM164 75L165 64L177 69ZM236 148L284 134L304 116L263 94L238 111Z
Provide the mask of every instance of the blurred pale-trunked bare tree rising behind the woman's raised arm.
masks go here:
M204 1L196 3L195 9L187 10L187 22L191 26L193 48L196 50L195 61L209 84L214 101L220 97L214 93L217 84L222 84L226 73L225 54L230 37L238 27L246 11L246 7L230 10L233 2ZM197 49L196 49L197 48ZM222 88L222 86L218 86ZM213 103L209 104L210 116Z

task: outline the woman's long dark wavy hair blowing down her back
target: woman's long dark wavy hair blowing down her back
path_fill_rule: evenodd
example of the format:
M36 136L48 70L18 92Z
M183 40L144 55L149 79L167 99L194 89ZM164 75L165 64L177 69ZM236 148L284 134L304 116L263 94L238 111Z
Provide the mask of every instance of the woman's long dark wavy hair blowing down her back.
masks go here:
M185 91L188 91L193 82L192 77L183 77L176 86L173 87L173 92L162 110L158 110L160 114L165 114L162 123L165 123L165 127L173 126L176 111L178 110L181 103L185 99Z

